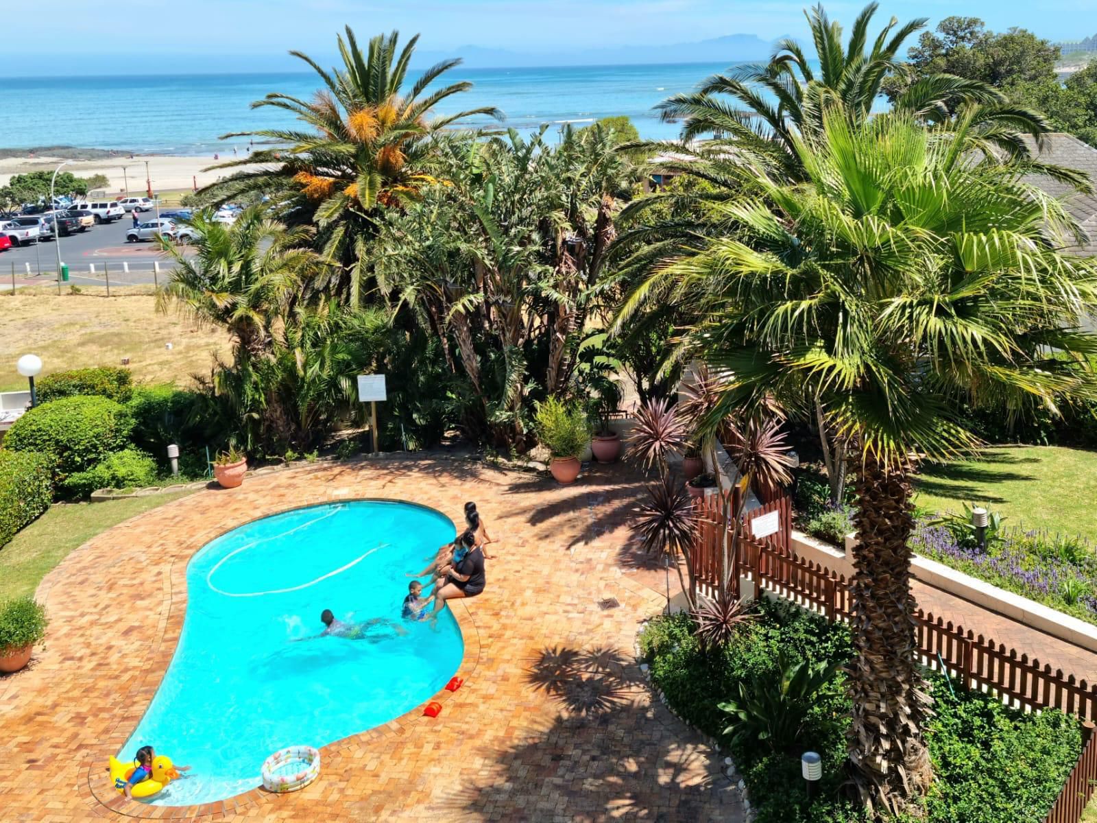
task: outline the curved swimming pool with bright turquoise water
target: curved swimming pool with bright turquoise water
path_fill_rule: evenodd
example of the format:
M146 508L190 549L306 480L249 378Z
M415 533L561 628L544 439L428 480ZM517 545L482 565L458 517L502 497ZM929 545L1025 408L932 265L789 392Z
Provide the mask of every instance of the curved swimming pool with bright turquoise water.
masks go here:
M441 689L461 664L461 630L449 609L432 629L400 620L400 605L406 574L453 537L453 523L432 509L362 500L267 517L203 546L186 567L171 665L117 755L132 760L152 745L192 767L148 802L190 805L247 791L273 752L372 729ZM326 608L346 621L393 624L370 628L364 640L296 642L319 634Z

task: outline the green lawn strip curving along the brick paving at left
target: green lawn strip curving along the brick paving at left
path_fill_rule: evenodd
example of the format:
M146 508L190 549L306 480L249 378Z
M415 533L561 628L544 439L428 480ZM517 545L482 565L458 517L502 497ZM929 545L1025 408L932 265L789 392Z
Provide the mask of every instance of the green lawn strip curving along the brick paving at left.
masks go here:
M58 503L0 549L0 600L33 595L54 566L100 532L192 492L108 503Z

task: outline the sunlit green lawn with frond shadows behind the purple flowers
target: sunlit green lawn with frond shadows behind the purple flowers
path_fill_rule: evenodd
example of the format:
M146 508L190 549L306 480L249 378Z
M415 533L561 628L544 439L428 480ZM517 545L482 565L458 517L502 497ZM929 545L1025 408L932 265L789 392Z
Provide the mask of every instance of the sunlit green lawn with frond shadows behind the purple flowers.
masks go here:
M1097 542L1097 452L1056 446L1004 446L977 461L925 465L915 504L929 511L963 511L980 503L1005 526L1047 529Z

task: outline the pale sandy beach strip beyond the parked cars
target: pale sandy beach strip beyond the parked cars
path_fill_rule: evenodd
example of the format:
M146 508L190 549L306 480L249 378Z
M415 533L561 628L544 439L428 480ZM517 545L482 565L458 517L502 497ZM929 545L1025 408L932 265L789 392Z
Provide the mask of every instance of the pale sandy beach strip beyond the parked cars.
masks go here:
M65 157L39 154L35 154L34 157L23 155L2 158L0 159L0 185L7 185L12 174L22 174L27 171L53 171L65 159ZM131 158L128 154L118 154L115 157L70 160L65 167L65 171L71 171L77 177L105 174L111 181L106 193L121 194L127 188L132 193L144 193L146 161L154 192L191 189L194 185L201 189L203 185L216 182L218 178L227 177L236 171L262 168L259 165L250 165L205 171L210 166L231 159L238 159L233 157L231 149L227 155L219 155L219 159L214 159L213 155L134 155ZM123 172L123 167L125 167L125 172Z

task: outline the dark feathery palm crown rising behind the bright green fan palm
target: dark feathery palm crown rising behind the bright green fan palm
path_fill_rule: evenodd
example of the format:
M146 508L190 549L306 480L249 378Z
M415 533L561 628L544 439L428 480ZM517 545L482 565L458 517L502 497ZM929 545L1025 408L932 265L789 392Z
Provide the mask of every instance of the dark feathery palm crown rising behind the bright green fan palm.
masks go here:
M818 131L824 110L834 101L853 122L867 120L885 78L905 70L898 58L903 44L926 24L926 18L904 25L892 18L870 47L869 25L877 9L875 2L864 7L844 45L841 25L816 5L804 12L816 60L796 41L782 40L768 63L713 75L698 91L676 94L657 108L664 120L685 120L683 142L706 134L726 136L725 154L748 153L753 164L762 161L777 173L801 179L798 136ZM893 103L894 111L929 123L948 123L960 106L970 106L970 116L985 124L987 140L1010 154L1028 154L1011 135L1040 139L1050 131L1042 115L1009 106L997 89L953 75L921 77Z

